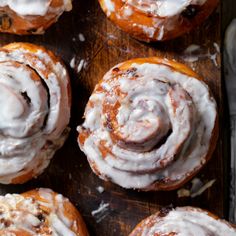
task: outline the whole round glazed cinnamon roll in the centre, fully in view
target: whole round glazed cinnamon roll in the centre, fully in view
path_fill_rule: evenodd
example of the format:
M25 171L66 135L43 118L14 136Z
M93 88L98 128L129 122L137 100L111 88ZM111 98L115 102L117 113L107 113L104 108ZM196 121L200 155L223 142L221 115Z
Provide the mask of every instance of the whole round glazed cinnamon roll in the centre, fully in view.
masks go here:
M216 102L188 67L161 58L112 68L95 87L78 127L93 171L124 188L171 190L209 160Z

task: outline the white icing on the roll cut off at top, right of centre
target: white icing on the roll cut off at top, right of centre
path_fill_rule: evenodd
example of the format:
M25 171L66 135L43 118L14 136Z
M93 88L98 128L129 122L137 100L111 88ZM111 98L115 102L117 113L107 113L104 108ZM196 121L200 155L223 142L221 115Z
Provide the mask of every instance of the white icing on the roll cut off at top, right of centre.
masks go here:
M189 5L203 5L206 0L127 0L129 5L160 17L180 14Z

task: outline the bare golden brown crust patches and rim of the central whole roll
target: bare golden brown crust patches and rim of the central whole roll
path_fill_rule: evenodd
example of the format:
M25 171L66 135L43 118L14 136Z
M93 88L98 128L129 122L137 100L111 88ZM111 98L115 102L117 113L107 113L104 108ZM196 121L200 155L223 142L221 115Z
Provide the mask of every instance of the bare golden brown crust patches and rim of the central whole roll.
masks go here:
M114 88L112 87L112 89L110 90L111 92L110 93L108 92L108 94L107 94L106 86L104 85L104 83L109 84L112 81L114 82L114 81L118 80L119 75L121 75L122 73L124 73L124 75L125 75L126 71L131 70L132 64L142 65L144 63L165 65L165 66L169 67L172 71L176 71L176 72L184 74L188 77L193 77L197 80L203 81L203 79L199 75L197 75L193 70L191 70L189 67L187 67L181 63L167 60L164 58L159 58L159 57L137 58L137 59L125 61L125 62L115 66L114 68L112 68L112 70L110 70L110 72L108 72L105 75L104 79L98 83L93 94L100 94L100 93L106 94L106 96L105 96L106 98L109 96L112 96L113 99L114 99L114 96L121 97L121 100L122 100L122 97L126 97L126 94L124 92L120 91L119 86L115 86ZM135 75L131 80L136 80ZM111 86L111 85L109 85L109 86ZM207 88L207 90L209 93L209 97L212 100L214 100L214 98L208 88ZM190 96L191 96L191 94L190 94ZM113 101L113 99L111 99L111 100ZM94 101L95 100L93 100L93 99L89 100L87 107L86 107L86 112L87 111L90 112L90 110L94 109L94 107L99 106L99 104L95 103ZM106 121L103 121L104 127L107 127L107 129L110 130L109 135L112 140L112 143L117 144L118 146L120 146L123 149L126 149L127 146L128 146L128 148L130 148L130 146L132 147L132 145L133 145L132 148L135 148L134 150L136 150L137 153L139 153L139 149L138 149L139 147L137 146L139 144L132 143L132 142L129 143L126 139L123 139L122 135L119 133L119 127L118 127L119 124L117 124L116 116L117 116L117 111L120 108L120 102L118 102L118 100L117 100L117 102L110 104L107 101L108 100L106 100L104 102L102 102L102 101L100 101L100 102L103 104L102 108L101 108L102 114L104 115L104 117L107 117ZM214 108L214 109L216 109L216 108ZM87 114L86 112L85 112L85 118L86 118L86 114ZM101 115L101 116L103 116L103 115ZM85 123L86 123L86 119L85 119ZM185 173L184 177L181 177L181 178L178 177L175 179L173 179L173 178L170 179L169 177L165 177L165 178L163 178L163 180L160 179L160 180L154 181L151 185L148 185L144 188L139 187L138 189L142 190L142 191L157 191L157 190L169 191L169 190L177 189L177 188L181 187L183 184L185 184L187 181L189 181L194 175L196 175L198 173L198 171L200 171L200 169L203 168L203 166L206 164L206 162L208 162L208 160L211 158L213 151L216 147L216 143L218 140L218 131L219 131L217 112L216 112L216 117L214 119L214 123L212 124L211 130L212 130L212 132L211 132L211 136L209 136L208 150L206 152L204 152L206 154L201 157L202 161L198 166L195 166L193 169L191 169L191 171L188 171L188 173ZM85 153L86 153L86 150L84 149L85 141L90 136L93 135L92 133L93 133L93 131L91 131L90 128L83 128L83 126L81 126L81 130L79 131L78 142L79 142L81 149L83 151L85 151ZM105 141L105 140L102 140L102 139L100 141L96 140L96 143L99 142L99 144L95 144L97 146L99 152L101 153L103 160L105 160L104 162L106 162L107 156L112 156L114 159L116 159L116 158L119 159L119 157L117 157L116 154L113 153L112 148L109 146L112 144L107 144L107 141ZM124 143L124 145L123 145L123 143ZM179 152L178 150L180 150L179 148L181 148L181 146L179 146L179 147L177 146L176 148L177 148L177 153L178 153ZM143 145L141 145L141 151L145 151L143 149ZM86 155L88 157L88 161L90 163L90 166L93 169L93 171L95 172L95 174L97 174L100 178L105 179L105 180L112 179L112 177L111 178L109 178L109 176L107 177L106 174L104 174L103 171L101 171L101 168L99 168L96 161L94 161L92 158L90 158L88 153L86 153ZM165 165L166 165L164 162L165 160L164 159L162 159L162 160L163 161L161 164L162 165L161 168L165 168ZM170 165L172 165L172 164L170 163ZM157 171L158 171L158 169L157 169ZM140 172L137 171L136 173L140 173ZM146 173L146 170L144 170L143 173ZM152 170L152 172L150 171L150 174L152 174L152 173L155 173L155 170ZM173 175L173 173L171 173L171 174ZM127 176L127 178L129 178L129 177ZM114 182L117 182L117 181L114 181Z

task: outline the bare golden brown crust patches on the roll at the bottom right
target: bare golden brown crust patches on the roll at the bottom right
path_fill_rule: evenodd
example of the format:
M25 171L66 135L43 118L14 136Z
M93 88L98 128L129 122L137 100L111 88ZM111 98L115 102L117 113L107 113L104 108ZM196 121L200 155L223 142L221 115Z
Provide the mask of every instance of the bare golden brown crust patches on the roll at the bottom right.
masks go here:
M200 209L200 208L196 208L196 207L178 207L176 209L181 209L182 211L186 211L186 212L199 212L199 213L205 213L207 214L209 217L225 224L226 226L228 226L229 228L233 228L236 229L236 225L233 225L225 220L221 220L218 216L214 215L213 213ZM162 208L159 212L147 217L146 219L142 220L140 223L138 223L138 225L135 226L135 228L132 230L132 232L129 234L129 236L142 236L144 233L144 229L150 229L151 227L154 226L154 224L158 221L164 221L165 222L165 216L169 214L170 211L175 211L175 209L171 209L171 208ZM197 215L196 215L197 217ZM196 221L198 222L198 221ZM182 224L184 226L184 222ZM165 233L162 234L160 232L155 232L155 236L175 236L177 235L177 233L175 232L169 232L169 233ZM145 234L145 236L149 236L149 234Z

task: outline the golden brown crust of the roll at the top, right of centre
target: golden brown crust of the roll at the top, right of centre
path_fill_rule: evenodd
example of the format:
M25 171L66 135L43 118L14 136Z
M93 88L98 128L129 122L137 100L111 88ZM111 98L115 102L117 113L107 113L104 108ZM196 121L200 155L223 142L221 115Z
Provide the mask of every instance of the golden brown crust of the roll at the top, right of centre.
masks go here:
M207 0L202 6L190 5L181 14L159 17L129 6L127 1L111 1L114 4L114 11L109 11L106 0L99 0L108 18L134 38L146 42L173 39L196 28L219 3L218 0ZM131 15L125 14L127 8L132 12Z

